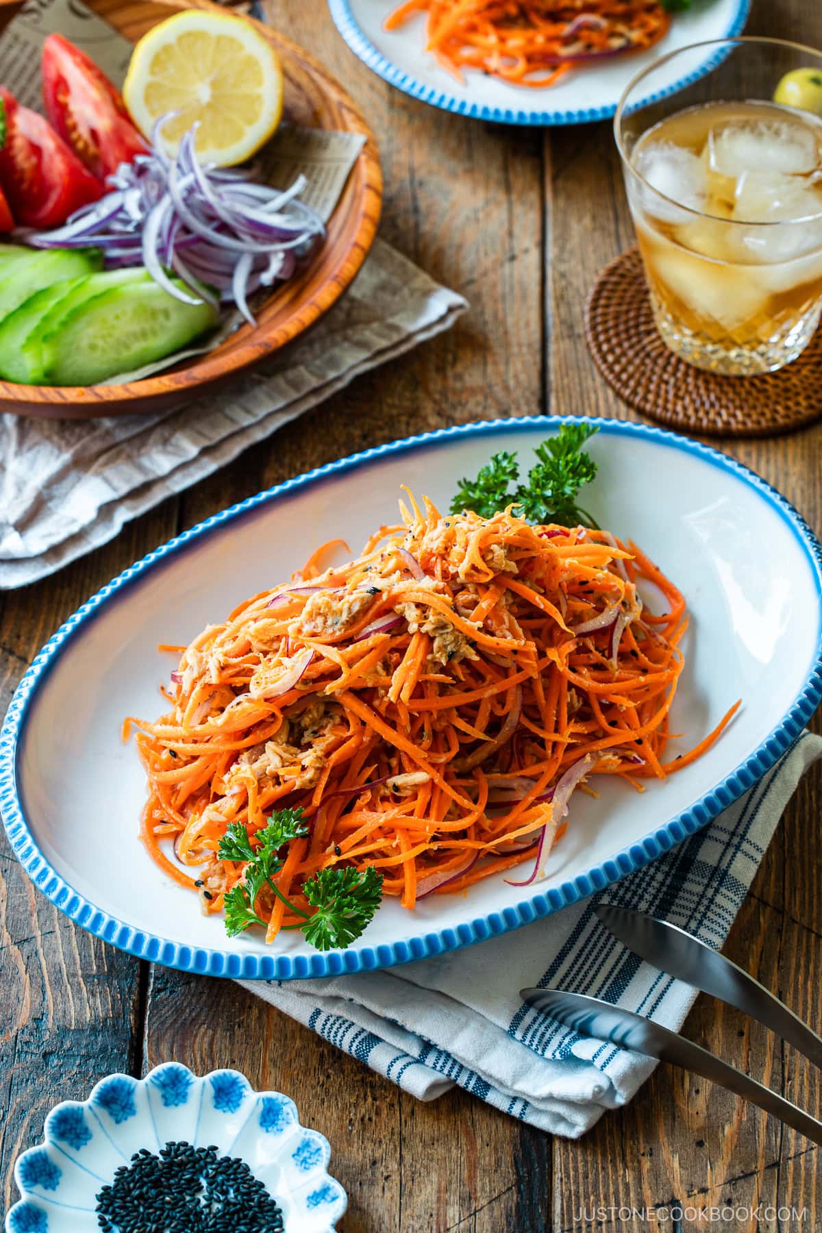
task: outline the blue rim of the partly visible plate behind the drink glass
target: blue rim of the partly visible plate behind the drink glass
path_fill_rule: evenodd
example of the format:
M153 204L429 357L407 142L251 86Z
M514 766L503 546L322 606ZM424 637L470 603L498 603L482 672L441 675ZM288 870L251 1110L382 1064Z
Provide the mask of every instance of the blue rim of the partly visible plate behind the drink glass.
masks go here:
M711 42L721 38L736 38L744 30L744 25L751 14L752 0L737 0L737 7L733 12L732 20L728 22L727 28L718 30L716 35L712 36ZM440 90L436 86L428 85L425 81L420 81L419 78L412 76L409 73L403 72L398 68L387 55L373 46L367 35L362 31L359 22L356 21L354 14L351 12L350 0L328 0L328 7L332 14L332 20L336 26L338 31L345 39L348 47L354 52L357 59L370 68L377 76L381 76L383 81L393 85L397 90L402 90L403 94L409 94L413 99L419 99L420 102L428 102L433 107L440 107L441 111L450 111L458 116L467 116L471 120L486 120L498 125L520 125L523 127L543 127L552 128L561 125L589 125L598 120L610 120L610 117L616 112L616 102L606 107L589 107L577 111L514 111L513 109L504 107L488 107L486 105L470 102L467 99L457 99L456 95L449 94L447 90ZM711 57L705 62L695 73L690 73L684 78L672 83L664 90L659 90L656 94L648 95L646 99L641 99L636 106L647 106L648 104L659 102L662 99L667 99L679 90L684 90L685 86L691 85L698 81L706 73L710 73L717 64L721 63L722 55L718 58Z

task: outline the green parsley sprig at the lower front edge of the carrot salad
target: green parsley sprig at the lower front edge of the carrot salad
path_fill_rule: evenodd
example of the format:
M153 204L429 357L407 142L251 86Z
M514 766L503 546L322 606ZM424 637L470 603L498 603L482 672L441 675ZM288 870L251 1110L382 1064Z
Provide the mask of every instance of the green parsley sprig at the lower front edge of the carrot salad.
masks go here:
M269 887L290 911L303 917L296 925L283 925L283 928L302 930L306 940L318 951L344 949L360 937L373 917L382 899L382 874L371 867L364 870L352 867L320 869L306 880L302 890L313 912L297 907L279 889L274 879L285 864L281 850L308 834L302 817L302 809L275 810L267 825L258 831L255 843L251 843L242 822L232 822L226 829L217 856L221 861L245 864L243 882L227 891L223 901L229 937L251 925L267 926L256 911L256 900L264 887Z

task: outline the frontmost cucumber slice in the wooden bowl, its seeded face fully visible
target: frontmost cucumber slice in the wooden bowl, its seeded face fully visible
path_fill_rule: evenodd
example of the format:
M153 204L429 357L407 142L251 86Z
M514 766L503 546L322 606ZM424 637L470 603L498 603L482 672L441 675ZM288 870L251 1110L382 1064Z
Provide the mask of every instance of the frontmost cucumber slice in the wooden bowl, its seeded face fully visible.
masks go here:
M181 291L187 289L177 279ZM51 385L95 385L179 351L219 318L210 303L185 305L157 282L134 282L86 300L43 340Z

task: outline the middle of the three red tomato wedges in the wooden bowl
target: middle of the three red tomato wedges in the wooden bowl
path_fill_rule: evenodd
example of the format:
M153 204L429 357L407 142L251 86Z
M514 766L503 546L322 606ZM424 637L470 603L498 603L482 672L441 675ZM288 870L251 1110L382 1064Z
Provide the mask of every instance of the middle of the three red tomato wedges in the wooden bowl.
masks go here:
M58 227L104 189L36 111L21 107L5 86L6 139L0 149L0 185L12 213L26 227Z

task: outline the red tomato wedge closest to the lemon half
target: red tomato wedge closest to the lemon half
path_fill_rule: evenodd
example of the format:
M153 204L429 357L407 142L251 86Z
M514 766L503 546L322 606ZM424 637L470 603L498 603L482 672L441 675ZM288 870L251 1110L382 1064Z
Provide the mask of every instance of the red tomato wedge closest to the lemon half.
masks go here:
M43 43L43 99L55 131L97 179L148 153L120 91L62 35Z

